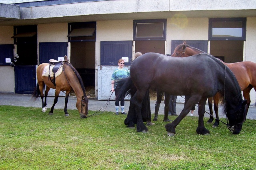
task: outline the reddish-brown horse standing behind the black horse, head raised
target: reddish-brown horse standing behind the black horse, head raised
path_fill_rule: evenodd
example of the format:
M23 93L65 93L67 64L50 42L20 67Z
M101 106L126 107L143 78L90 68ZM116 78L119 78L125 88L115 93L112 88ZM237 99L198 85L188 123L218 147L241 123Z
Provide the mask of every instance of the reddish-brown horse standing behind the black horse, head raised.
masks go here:
M201 51L200 49L190 47L189 45L184 42L183 44L178 45L174 53L172 54L172 57L188 57L196 54L204 53L204 51ZM222 63L224 63L222 61ZM236 79L238 81L238 84L243 91L244 99L247 100L247 108L249 108L251 100L250 100L250 91L252 88L256 91L256 63L253 63L251 61L242 61L238 63L224 63L230 70L234 73L236 76ZM213 97L214 100L214 111L216 114L216 120L213 125L213 127L216 127L219 125L219 117L218 117L218 104L219 104L220 94L216 94ZM213 115L212 112L212 98L208 98L209 108L210 108L210 114ZM210 106L211 105L211 106ZM247 109L248 111L248 109ZM210 119L208 120L208 123L211 123L213 121L213 117L210 116Z

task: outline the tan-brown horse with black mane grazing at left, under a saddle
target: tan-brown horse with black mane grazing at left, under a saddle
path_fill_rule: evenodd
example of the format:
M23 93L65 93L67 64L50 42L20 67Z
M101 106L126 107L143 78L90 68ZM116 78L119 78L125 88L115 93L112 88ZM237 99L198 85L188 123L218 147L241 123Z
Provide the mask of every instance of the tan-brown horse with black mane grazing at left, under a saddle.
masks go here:
M43 76L44 72L46 72L46 70L49 69L50 64L42 63L38 66L36 70L38 83L36 84L32 98L36 100L36 98L38 98L39 96L41 97L42 108L43 108L42 111L45 112L47 109L46 98L48 96L48 92L50 88L55 89L56 91L55 91L54 103L49 112L49 114L52 115L54 106L58 102L58 96L60 92L66 91L64 112L65 112L65 116L69 116L67 112L68 96L70 94L71 89L73 89L76 94L76 98L77 98L76 108L80 113L80 117L86 118L88 115L88 97L89 96L86 97L86 92L85 92L82 78L78 74L77 70L67 61L62 61L61 65L63 70L59 76L56 76L55 81L52 80L52 77ZM47 66L48 68L46 68ZM54 86L54 83L56 84L55 86ZM46 90L43 93L45 85L46 85ZM44 97L45 97L45 101L44 101Z

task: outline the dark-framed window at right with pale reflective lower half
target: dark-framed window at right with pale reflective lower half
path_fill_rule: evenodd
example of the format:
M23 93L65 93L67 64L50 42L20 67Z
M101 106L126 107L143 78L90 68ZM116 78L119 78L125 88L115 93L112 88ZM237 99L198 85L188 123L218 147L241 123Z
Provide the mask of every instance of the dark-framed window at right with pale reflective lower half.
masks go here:
M209 40L246 40L246 18L210 18Z

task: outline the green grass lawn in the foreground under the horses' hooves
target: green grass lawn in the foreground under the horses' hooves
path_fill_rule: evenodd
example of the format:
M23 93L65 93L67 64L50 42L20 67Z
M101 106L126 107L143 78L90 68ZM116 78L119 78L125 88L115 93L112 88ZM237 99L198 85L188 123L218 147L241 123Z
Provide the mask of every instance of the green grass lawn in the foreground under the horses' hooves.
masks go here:
M238 135L224 124L205 126L187 116L168 137L159 115L148 133L126 128L126 115L104 112L80 119L77 110L0 106L0 170L253 170L256 120ZM89 111L89 114L94 111ZM175 117L170 117L174 119ZM205 119L205 122L207 119ZM222 119L222 121L226 121Z

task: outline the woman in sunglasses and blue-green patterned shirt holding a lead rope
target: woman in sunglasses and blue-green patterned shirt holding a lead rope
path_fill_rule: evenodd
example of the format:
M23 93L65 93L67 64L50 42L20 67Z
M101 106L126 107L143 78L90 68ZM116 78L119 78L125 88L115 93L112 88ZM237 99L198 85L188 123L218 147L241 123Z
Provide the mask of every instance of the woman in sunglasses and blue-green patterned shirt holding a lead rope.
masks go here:
M128 70L127 68L124 68L124 59L119 59L118 60L118 68L116 68L111 76L111 91L115 92L116 94L116 102L115 102L115 106L116 106L116 115L118 115L118 109L119 109L119 101L120 101L120 105L121 105L121 113L126 115L126 113L124 112L124 97L125 97L125 93L121 94L120 98L117 98L121 87L117 86L115 84L116 80L121 80L122 78L126 78L126 77L130 77L130 70Z

